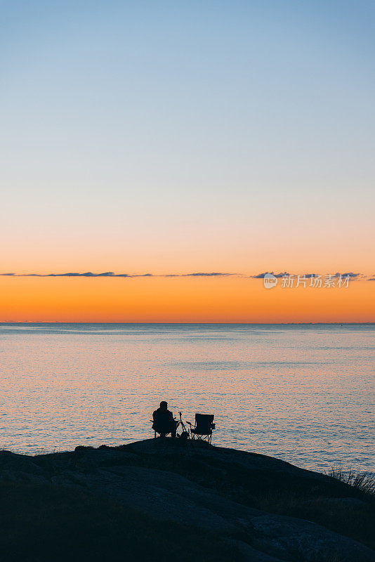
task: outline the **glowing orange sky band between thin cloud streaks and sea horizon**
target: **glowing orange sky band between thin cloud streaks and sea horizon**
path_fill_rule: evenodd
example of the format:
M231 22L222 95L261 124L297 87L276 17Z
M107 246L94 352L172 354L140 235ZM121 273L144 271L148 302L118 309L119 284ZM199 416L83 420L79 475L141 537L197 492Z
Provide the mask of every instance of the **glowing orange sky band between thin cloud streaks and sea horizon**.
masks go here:
M375 282L265 289L243 277L1 277L1 322L374 322Z

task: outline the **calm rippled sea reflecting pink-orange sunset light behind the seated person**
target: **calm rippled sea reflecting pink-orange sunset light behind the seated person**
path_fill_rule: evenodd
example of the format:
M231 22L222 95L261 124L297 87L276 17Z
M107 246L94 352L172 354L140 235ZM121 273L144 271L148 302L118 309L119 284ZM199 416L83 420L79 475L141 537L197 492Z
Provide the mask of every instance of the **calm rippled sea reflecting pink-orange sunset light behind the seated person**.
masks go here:
M375 325L0 324L0 448L153 436L160 400L213 443L374 471Z

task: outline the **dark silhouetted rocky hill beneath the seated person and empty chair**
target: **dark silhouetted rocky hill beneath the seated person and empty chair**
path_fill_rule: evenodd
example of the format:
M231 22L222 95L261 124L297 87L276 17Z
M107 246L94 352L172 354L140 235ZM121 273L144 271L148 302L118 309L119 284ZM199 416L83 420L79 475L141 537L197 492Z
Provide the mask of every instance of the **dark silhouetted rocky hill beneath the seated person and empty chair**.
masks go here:
M0 490L4 561L375 561L371 497L224 447L166 438L0 451Z

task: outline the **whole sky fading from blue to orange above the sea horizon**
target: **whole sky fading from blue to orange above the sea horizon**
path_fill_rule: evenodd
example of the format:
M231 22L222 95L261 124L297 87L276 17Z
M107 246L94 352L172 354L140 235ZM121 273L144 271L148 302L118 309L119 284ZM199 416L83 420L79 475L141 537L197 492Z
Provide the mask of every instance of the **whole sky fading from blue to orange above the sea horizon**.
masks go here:
M374 6L0 0L0 321L375 321Z

